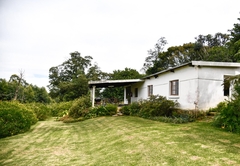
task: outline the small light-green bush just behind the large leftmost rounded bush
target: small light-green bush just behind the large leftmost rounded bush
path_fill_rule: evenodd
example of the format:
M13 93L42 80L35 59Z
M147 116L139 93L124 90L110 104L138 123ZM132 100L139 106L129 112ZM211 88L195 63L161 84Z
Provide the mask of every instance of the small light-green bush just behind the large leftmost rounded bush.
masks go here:
M27 108L33 110L37 116L37 119L40 121L46 120L51 116L50 108L43 103L28 103L26 106Z

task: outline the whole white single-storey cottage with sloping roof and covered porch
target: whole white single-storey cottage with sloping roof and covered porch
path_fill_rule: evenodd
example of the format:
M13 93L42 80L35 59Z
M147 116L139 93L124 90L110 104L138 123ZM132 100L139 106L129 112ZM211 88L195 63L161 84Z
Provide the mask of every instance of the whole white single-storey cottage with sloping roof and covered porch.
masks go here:
M181 109L207 110L231 96L224 78L237 74L240 63L192 61L143 79L90 81L89 86L92 92L96 87L125 86L125 104L161 95L178 101Z

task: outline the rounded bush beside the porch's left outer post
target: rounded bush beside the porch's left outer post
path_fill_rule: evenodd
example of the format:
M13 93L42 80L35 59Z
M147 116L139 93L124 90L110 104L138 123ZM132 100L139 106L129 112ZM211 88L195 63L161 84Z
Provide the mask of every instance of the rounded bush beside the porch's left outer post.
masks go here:
M88 113L89 107L91 107L90 98L88 96L80 97L73 101L69 109L69 116L73 118L84 117Z

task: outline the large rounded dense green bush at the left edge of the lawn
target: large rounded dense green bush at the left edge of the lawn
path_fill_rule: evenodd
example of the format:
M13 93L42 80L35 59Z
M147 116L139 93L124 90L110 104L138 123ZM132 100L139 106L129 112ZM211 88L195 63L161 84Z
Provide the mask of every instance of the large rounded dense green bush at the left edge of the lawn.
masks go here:
M36 115L18 102L0 102L0 137L26 132L37 122Z

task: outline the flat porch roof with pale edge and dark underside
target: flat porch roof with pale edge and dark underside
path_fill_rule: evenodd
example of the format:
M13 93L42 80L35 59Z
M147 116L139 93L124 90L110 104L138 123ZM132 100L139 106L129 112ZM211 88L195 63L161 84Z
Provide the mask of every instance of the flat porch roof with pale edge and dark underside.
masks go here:
M142 79L126 79L126 80L100 80L100 81L89 81L88 86L92 88L105 88L105 87L119 87L127 86L137 82L144 82Z

